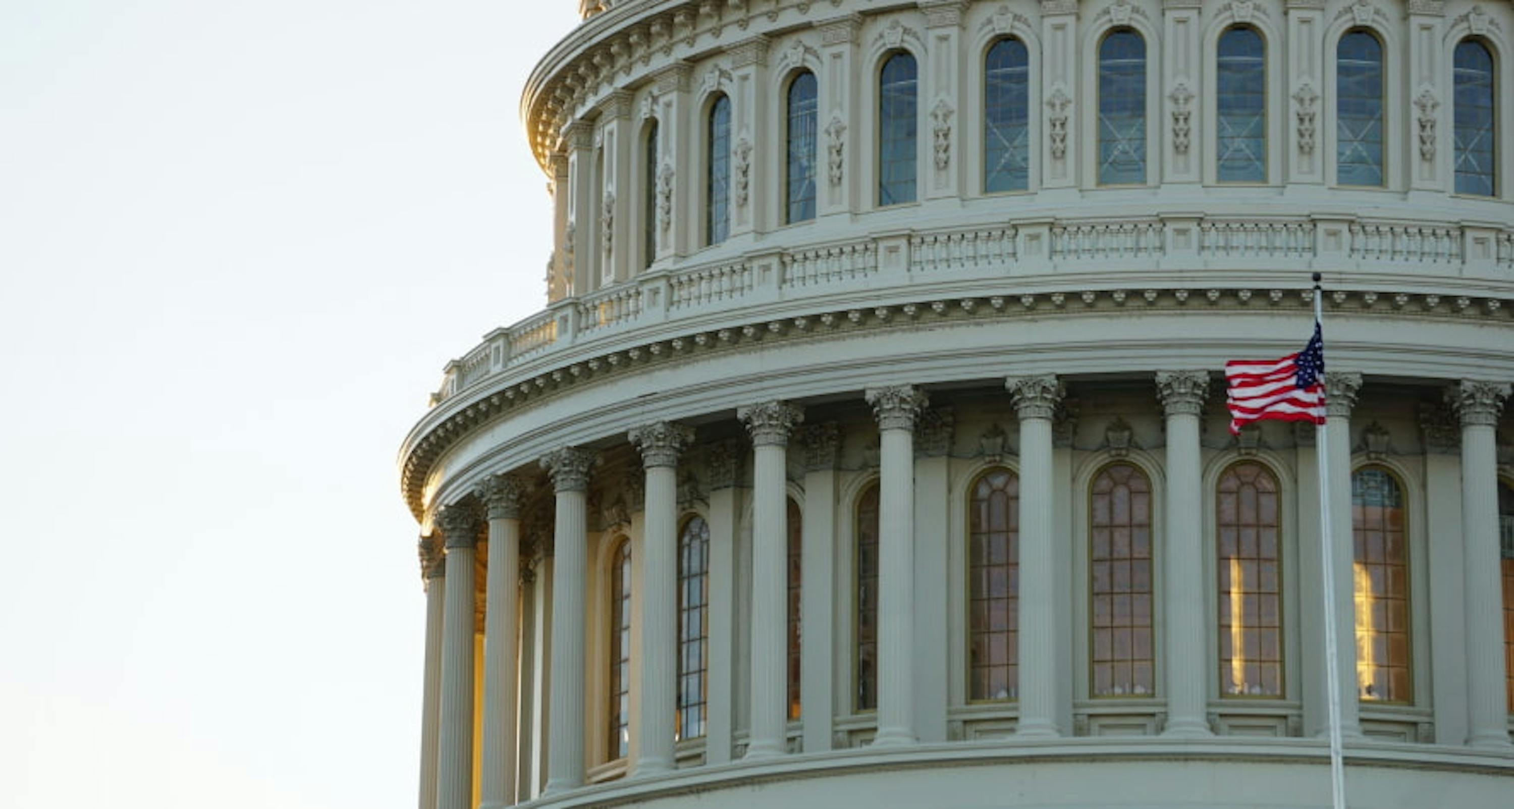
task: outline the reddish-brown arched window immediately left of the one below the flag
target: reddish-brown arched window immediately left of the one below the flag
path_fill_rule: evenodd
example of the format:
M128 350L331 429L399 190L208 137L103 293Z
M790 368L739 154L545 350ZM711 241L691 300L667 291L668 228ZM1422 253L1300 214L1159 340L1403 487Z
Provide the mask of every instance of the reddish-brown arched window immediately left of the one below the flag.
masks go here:
M1093 695L1157 691L1151 598L1151 480L1131 464L1093 479L1089 579Z

